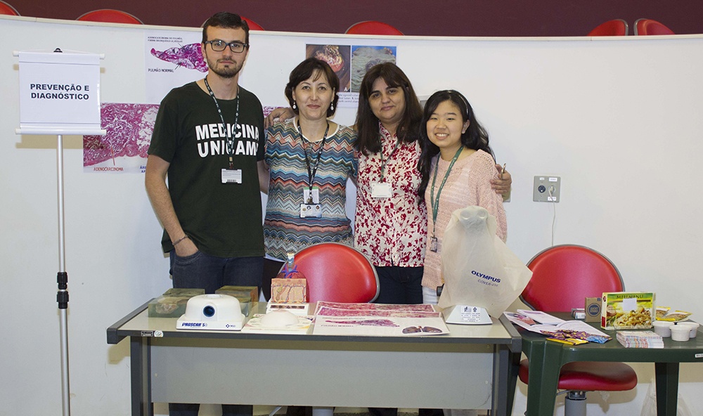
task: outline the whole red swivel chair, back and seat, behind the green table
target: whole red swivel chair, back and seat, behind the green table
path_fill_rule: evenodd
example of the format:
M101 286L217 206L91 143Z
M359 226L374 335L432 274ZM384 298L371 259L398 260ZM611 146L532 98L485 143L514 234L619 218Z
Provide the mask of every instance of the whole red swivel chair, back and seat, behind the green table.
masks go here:
M583 308L586 297L624 291L614 264L588 247L550 247L534 256L527 267L532 278L520 299L538 311L571 312L572 308ZM527 360L520 362L519 375L527 384ZM586 391L626 391L636 385L635 371L624 363L575 362L562 366L557 388L567 393L564 414L569 416L586 415Z

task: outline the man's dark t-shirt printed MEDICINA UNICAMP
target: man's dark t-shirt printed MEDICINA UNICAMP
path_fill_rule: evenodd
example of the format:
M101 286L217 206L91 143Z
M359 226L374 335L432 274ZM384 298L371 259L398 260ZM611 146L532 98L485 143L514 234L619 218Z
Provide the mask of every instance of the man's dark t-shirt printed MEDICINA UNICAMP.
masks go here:
M233 131L234 169L242 183L222 183L229 166L227 134L212 97L192 82L162 100L148 153L170 163L168 185L183 230L202 252L219 257L264 255L257 161L264 158L264 114L259 99L239 88L237 100L218 100ZM179 236L176 236L179 237ZM173 249L164 231L164 252Z

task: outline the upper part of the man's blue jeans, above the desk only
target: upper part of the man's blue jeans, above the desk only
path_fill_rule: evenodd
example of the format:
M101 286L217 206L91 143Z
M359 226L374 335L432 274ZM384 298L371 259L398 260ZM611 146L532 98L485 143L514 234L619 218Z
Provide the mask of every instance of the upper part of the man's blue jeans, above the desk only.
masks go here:
M203 252L191 256L169 253L174 287L205 289L214 293L220 287L262 285L264 257L216 257Z

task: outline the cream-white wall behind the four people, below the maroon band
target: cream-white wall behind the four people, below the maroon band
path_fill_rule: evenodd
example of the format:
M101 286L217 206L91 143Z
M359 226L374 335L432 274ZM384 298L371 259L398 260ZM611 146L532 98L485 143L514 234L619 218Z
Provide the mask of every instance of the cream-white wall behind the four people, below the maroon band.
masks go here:
M103 102L139 103L143 30L0 18L0 415L58 415L61 408L56 137L15 135L18 60L12 52L105 53ZM256 46L243 85L264 105L283 105L283 85L307 39L252 34ZM507 162L515 181L506 204L508 246L521 259L551 244L555 209L555 244L598 249L617 264L628 290L656 292L659 303L703 316L696 169L703 155L703 37L384 43L398 45L398 63L418 94L458 89L489 129L498 161ZM343 124L353 120L353 109L337 115ZM160 226L141 174L84 174L81 138L64 139L72 413L125 415L129 349L126 342L106 344L105 328L169 287ZM562 177L559 204L531 201L539 174ZM638 415L653 370L636 369L635 390L590 394L588 414ZM681 366L681 394L692 415L703 414L701 374L695 365ZM514 414L522 415L526 387L518 389Z

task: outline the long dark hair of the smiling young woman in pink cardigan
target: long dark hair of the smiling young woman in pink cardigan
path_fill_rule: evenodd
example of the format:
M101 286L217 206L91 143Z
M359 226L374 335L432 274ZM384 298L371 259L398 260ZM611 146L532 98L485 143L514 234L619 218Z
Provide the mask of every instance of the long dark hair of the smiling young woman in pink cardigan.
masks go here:
M454 91L453 89L437 91L427 99L425 111L423 112L423 121L420 125L420 144L422 145L423 152L420 155L418 169L420 170L423 180L420 182L420 188L418 188L418 196L421 200L425 199L425 190L427 189L427 184L430 182L432 157L439 153L437 145L432 143L427 136L427 120L430 119L434 110L437 110L439 104L444 103L444 101L451 101L453 105L456 105L461 113L462 123L465 123L467 120L469 121L468 129L461 135L461 144L465 148L483 150L493 156L494 160L496 159L496 155L494 155L491 146L488 144L488 132L479 124L474 114L474 109L471 108L469 101L461 95L460 92Z

